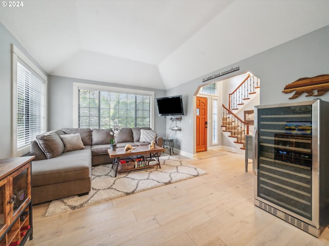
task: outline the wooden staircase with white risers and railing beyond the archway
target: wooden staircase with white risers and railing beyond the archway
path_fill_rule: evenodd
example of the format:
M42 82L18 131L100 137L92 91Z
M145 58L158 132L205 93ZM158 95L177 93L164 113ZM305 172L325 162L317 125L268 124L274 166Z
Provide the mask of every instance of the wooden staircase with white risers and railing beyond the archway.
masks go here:
M249 135L249 123L236 113L248 104L254 94L259 93L259 88L260 80L248 74L242 83L229 94L229 106L226 107L223 104L222 132L237 150L245 150L245 136Z

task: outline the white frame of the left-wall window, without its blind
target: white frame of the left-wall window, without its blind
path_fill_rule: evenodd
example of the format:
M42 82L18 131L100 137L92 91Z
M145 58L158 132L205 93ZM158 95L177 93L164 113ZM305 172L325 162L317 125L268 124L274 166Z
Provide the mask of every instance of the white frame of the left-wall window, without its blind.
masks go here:
M48 87L48 77L44 74L38 67L36 67L33 62L15 45L11 44L11 72L12 72L12 156L19 157L27 154L30 151L30 144L27 144L21 148L17 148L17 62L21 60L25 65L27 65L32 72L36 73L41 79L44 80L45 84L45 129L43 132L47 131L47 87Z

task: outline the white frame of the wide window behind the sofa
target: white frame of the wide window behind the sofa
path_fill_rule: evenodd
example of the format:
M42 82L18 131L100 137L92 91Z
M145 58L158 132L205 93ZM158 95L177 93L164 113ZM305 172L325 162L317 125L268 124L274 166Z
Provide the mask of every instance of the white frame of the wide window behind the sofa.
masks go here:
M100 90L100 91L111 91L111 92L118 92L118 93L131 93L131 94L138 94L138 95L148 95L151 96L151 106L150 106L150 127L154 129L154 91L146 91L146 90L137 90L137 89L130 89L130 88L121 88L121 87L113 87L113 86L101 86L101 85L94 85L94 84L84 84L84 83L73 83L73 127L79 127L79 89L80 90Z

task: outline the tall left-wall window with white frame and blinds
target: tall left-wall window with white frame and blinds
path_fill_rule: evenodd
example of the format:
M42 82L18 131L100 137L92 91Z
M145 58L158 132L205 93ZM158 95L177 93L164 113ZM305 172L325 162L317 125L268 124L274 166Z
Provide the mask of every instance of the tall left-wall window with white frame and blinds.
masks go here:
M47 77L15 46L12 54L13 156L21 156L46 131Z

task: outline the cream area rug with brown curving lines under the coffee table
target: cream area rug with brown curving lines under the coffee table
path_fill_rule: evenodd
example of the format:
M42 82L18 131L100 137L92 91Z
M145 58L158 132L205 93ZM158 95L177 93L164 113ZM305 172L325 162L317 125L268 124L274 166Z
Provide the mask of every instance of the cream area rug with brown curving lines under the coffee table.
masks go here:
M155 166L118 173L117 177L114 177L115 170L112 168L112 164L93 167L92 190L89 194L53 200L50 202L45 216L58 215L206 174L204 170L172 156L161 156L160 165L161 168Z

